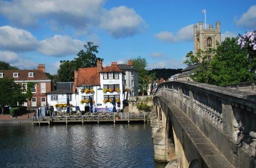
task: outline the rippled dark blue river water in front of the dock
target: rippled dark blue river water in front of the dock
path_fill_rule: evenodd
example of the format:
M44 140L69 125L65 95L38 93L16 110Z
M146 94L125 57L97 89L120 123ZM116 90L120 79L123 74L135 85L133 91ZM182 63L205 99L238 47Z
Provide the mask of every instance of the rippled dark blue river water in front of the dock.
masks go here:
M164 167L150 124L0 125L0 167Z

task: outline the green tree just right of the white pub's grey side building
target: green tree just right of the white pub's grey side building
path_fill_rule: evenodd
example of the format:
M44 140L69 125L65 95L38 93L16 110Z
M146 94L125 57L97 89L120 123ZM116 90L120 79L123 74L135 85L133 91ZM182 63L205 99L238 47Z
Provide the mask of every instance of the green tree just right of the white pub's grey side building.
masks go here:
M147 91L148 84L155 79L155 74L149 74L146 69L147 62L145 58L133 59L133 67L138 70L138 78L139 78L139 90L144 95L144 92Z

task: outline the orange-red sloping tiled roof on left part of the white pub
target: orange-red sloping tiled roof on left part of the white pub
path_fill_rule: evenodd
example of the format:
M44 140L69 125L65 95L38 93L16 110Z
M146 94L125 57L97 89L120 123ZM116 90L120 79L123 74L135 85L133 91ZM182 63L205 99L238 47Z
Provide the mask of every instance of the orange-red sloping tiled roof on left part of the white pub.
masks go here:
M75 86L100 85L97 67L78 68L77 71L77 81L74 83Z

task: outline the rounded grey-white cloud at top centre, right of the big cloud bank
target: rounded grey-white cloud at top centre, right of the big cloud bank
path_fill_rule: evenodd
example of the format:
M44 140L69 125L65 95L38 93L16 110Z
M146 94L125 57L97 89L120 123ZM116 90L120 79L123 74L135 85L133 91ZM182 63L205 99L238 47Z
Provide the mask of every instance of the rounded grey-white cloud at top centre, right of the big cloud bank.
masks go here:
M120 38L142 32L146 25L134 9L120 6L105 12L101 27L113 37Z

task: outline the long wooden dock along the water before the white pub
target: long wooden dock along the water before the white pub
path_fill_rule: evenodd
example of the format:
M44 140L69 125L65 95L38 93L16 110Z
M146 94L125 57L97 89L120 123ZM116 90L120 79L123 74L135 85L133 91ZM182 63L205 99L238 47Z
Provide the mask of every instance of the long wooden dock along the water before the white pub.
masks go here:
M33 116L32 124L53 123L100 123L100 122L146 122L148 113L98 113L87 115Z

